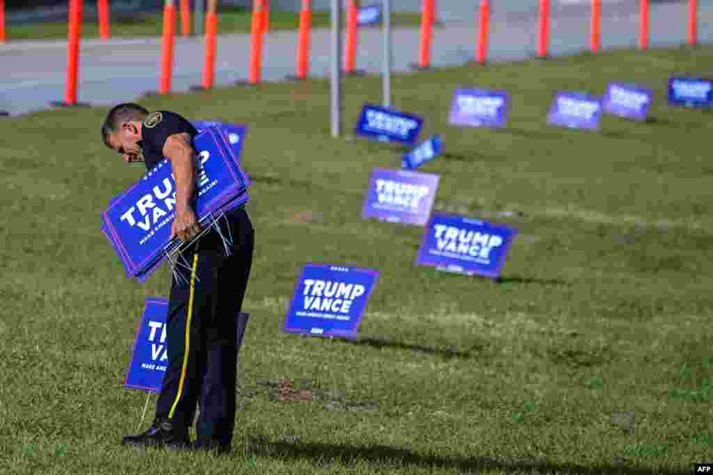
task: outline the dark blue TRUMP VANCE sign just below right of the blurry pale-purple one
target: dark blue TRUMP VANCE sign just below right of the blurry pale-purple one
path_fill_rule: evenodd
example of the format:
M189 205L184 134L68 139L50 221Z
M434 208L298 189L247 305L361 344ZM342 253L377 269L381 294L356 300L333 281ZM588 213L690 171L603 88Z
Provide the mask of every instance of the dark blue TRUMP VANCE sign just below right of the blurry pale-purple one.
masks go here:
M465 216L434 213L416 263L468 276L497 278L517 232Z

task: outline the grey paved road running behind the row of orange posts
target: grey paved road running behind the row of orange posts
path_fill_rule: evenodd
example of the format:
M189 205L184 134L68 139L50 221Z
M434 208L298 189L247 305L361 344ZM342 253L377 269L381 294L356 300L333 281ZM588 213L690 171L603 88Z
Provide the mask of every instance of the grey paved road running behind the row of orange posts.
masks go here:
M703 2L702 2L703 3ZM699 7L699 41L713 42L713 2ZM686 41L687 6L652 4L650 45L675 46ZM589 47L588 9L553 9L550 52L553 56L578 53ZM637 46L639 14L635 5L602 8L602 48ZM537 47L538 18L522 14L494 14L491 21L488 61L517 61L531 56ZM475 51L477 28L471 23L446 23L434 30L431 65L458 66L470 61ZM297 33L268 33L265 40L263 80L283 80L294 74ZM328 29L312 32L309 75L329 76ZM359 34L356 68L379 73L381 33L366 28ZM394 29L394 71L411 71L418 59L418 28ZM247 79L250 36L222 35L218 39L215 72L217 87ZM203 43L200 38L177 38L173 90L185 91L200 84ZM11 115L43 110L63 100L66 77L66 41L7 43L0 46L0 63L9 74L0 77L0 110ZM160 38L119 39L108 43L83 41L78 100L92 105L111 105L135 100L158 89ZM622 78L626 80L626 78ZM378 100L378 98L374 98Z

